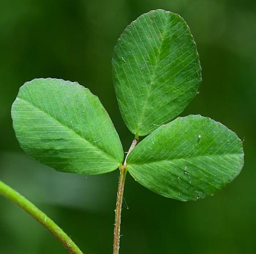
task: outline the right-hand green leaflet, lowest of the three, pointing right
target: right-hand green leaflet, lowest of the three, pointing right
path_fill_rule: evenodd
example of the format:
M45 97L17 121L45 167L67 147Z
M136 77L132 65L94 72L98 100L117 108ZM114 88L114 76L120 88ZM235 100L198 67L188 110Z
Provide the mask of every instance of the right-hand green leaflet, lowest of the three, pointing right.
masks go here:
M127 158L127 169L144 187L176 200L213 195L243 166L236 133L202 116L178 117L143 139Z

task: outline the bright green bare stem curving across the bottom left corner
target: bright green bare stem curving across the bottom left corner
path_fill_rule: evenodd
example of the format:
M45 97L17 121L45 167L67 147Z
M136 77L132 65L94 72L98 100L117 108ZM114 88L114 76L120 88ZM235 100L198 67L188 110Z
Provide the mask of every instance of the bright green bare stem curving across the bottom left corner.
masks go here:
M82 254L79 247L68 237L65 232L55 224L46 214L36 208L34 204L14 191L11 187L0 181L0 194L13 201L14 204L25 210L28 214L47 228L71 254Z

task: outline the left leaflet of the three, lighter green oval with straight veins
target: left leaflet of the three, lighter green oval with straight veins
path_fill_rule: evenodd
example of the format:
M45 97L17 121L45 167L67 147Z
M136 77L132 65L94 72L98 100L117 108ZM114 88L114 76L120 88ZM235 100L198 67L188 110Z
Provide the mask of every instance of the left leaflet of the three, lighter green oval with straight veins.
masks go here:
M11 116L20 146L49 167L99 174L122 164L122 145L108 113L79 83L51 78L27 82Z

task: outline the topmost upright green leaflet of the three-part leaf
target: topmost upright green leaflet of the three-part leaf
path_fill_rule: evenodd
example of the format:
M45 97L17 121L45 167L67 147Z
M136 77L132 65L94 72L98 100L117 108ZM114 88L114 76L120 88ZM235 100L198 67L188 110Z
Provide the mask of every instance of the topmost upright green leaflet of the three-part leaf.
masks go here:
M113 80L123 120L136 137L177 117L201 82L196 44L184 19L155 10L132 22L114 49Z

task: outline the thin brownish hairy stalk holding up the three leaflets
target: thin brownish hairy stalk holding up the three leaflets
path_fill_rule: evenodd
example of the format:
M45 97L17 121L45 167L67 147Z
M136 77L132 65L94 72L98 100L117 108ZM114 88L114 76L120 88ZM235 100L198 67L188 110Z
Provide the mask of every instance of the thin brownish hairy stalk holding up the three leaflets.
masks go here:
M114 224L114 244L113 244L113 254L119 253L119 239L120 239L120 226L121 226L121 212L122 212L122 202L123 202L123 189L125 188L125 177L126 177L126 160L127 156L134 149L137 144L138 139L134 138L131 146L129 148L128 153L125 157L125 162L123 162L123 166L120 168L120 176L118 182L118 190L117 190L117 203L115 205L115 224Z

